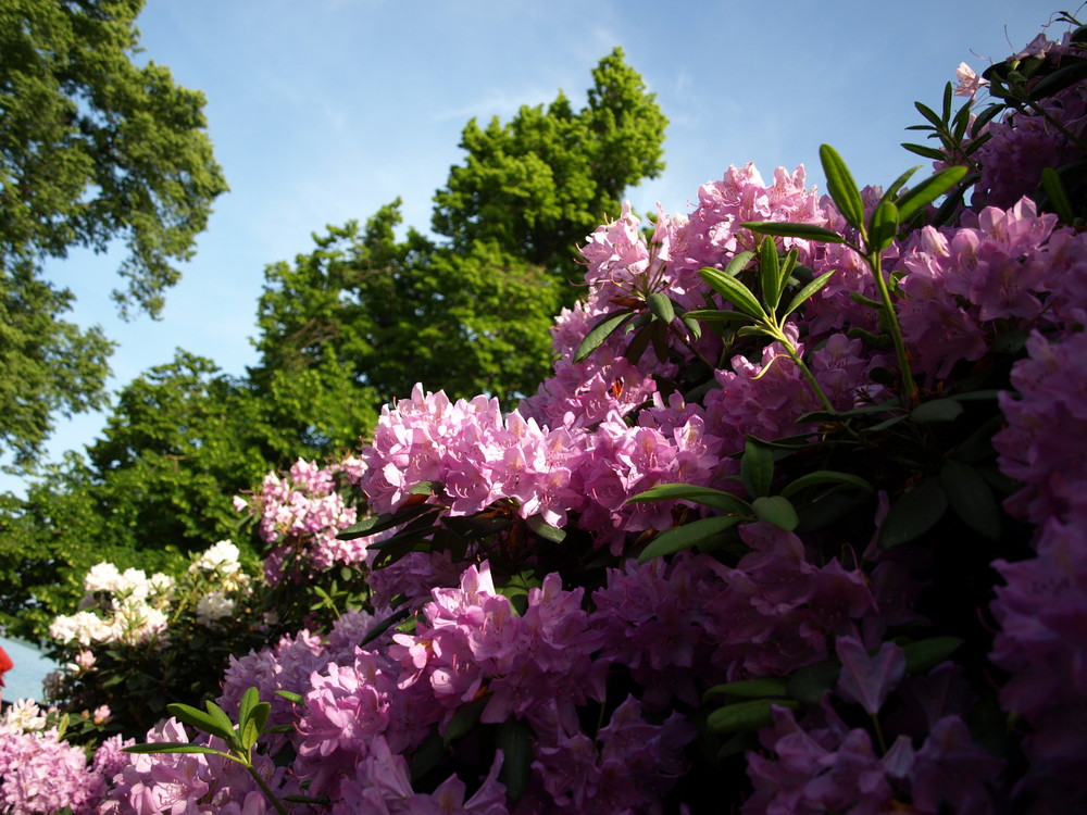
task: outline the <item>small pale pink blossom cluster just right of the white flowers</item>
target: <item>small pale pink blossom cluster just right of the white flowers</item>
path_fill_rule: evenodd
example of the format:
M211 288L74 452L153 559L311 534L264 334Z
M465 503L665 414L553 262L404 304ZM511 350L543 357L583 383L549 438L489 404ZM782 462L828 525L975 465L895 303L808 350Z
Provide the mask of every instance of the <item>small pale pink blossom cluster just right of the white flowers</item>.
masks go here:
M358 519L358 511L343 500L336 476L346 473L350 478L359 478L361 472L354 459L328 467L299 459L284 477L266 475L252 499L234 499L238 511L258 515L261 538L272 544L264 560L268 585L275 586L285 577L284 563L288 556L317 569L334 563L361 563L365 559L365 541L336 538Z

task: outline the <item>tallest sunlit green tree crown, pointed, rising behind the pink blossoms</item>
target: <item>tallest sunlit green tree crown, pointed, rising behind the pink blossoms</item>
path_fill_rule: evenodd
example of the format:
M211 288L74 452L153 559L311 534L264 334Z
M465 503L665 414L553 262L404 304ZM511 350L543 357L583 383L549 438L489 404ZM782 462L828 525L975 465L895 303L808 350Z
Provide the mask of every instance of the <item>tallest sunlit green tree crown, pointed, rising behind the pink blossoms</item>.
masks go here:
M465 126L463 166L449 171L434 197L434 230L455 251L479 240L580 279L575 247L610 214L620 197L664 170L667 118L616 48L592 71L588 103L575 113L560 91L544 105L522 106L508 123ZM575 299L567 290L564 302Z

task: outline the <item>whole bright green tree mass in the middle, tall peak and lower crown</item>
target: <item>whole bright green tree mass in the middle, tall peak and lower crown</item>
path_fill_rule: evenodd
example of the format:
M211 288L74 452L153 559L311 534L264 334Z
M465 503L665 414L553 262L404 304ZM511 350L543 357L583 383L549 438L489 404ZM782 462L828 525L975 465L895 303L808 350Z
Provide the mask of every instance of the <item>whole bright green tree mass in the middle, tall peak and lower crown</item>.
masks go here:
M316 249L266 272L257 383L333 360L376 404L416 381L508 406L551 363L548 328L571 304L573 260L630 185L663 170L666 120L615 49L592 72L584 110L562 93L507 124L464 128L465 163L434 197L430 240L398 241L399 201L360 230L314 236Z

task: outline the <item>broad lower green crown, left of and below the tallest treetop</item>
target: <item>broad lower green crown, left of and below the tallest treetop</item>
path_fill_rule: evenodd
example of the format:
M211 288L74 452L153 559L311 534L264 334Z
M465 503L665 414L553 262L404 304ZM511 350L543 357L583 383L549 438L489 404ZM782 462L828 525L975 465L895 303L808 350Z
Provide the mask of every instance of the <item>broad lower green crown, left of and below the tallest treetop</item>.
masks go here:
M293 266L268 267L261 298L254 383L323 367L354 390L345 404L357 409L357 432L373 424L377 405L416 381L510 401L550 363L553 277L493 240L463 252L414 230L397 241L399 205L382 208L363 230L355 222L329 227Z

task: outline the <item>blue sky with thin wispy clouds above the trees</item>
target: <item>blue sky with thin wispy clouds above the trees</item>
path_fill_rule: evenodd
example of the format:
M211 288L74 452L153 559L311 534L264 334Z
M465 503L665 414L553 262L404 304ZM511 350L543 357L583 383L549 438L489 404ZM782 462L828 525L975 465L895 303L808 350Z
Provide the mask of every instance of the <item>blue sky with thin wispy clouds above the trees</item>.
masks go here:
M70 318L120 343L111 389L175 348L242 375L255 362L265 265L397 197L425 230L470 117L504 120L560 88L580 105L615 46L671 120L667 170L628 198L641 212L657 201L688 212L699 185L730 164L754 162L764 178L804 164L822 190L824 142L861 184L890 183L920 163L898 147L916 140L904 130L921 121L914 100L937 106L960 62L980 73L1054 10L1036 0L148 0L143 58L207 96L230 192L162 321L116 318L120 254L73 252L48 274L77 296ZM82 449L103 424L60 422L49 457Z

